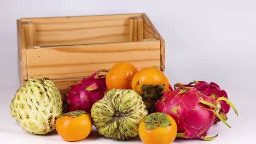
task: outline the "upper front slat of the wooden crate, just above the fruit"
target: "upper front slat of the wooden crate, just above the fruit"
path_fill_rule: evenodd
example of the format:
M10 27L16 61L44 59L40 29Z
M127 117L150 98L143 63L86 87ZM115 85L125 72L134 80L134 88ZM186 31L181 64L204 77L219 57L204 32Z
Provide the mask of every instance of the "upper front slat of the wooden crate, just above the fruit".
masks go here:
M160 68L160 40L27 49L28 77L62 79L88 76L118 62Z

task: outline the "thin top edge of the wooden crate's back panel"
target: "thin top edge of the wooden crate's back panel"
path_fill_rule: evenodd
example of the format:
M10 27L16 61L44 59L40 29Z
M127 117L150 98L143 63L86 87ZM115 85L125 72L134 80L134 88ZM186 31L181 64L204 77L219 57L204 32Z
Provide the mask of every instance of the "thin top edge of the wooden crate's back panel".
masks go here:
M141 16L142 14L115 14L115 15L92 15L92 16L63 16L63 17L36 17L24 18L22 22L34 21L36 23L63 23L63 22L83 22L128 19L129 17Z

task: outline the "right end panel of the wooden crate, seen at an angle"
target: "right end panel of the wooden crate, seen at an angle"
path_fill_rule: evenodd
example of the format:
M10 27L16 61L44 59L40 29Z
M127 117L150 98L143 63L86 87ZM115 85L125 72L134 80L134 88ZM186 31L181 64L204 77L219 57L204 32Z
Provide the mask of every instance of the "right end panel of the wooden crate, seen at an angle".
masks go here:
M160 43L160 65L161 71L165 71L165 40L154 27L153 23L148 19L146 14L142 14L144 20L144 39L158 39Z

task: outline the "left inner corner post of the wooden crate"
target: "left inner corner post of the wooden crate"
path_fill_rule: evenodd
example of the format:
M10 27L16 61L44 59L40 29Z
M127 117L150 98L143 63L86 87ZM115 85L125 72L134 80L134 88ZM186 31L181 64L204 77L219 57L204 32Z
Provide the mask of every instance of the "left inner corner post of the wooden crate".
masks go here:
M34 22L23 22L22 27L24 30L26 46L36 45L36 25Z

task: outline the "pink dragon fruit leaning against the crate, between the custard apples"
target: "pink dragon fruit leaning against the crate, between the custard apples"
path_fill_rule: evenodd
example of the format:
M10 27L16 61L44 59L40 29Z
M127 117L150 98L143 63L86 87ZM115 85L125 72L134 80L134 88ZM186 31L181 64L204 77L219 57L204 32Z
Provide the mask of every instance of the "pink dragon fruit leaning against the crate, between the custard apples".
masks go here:
M98 70L90 77L80 80L71 90L64 94L63 103L67 112L85 110L90 113L92 105L103 98L107 91L105 77L107 70Z

